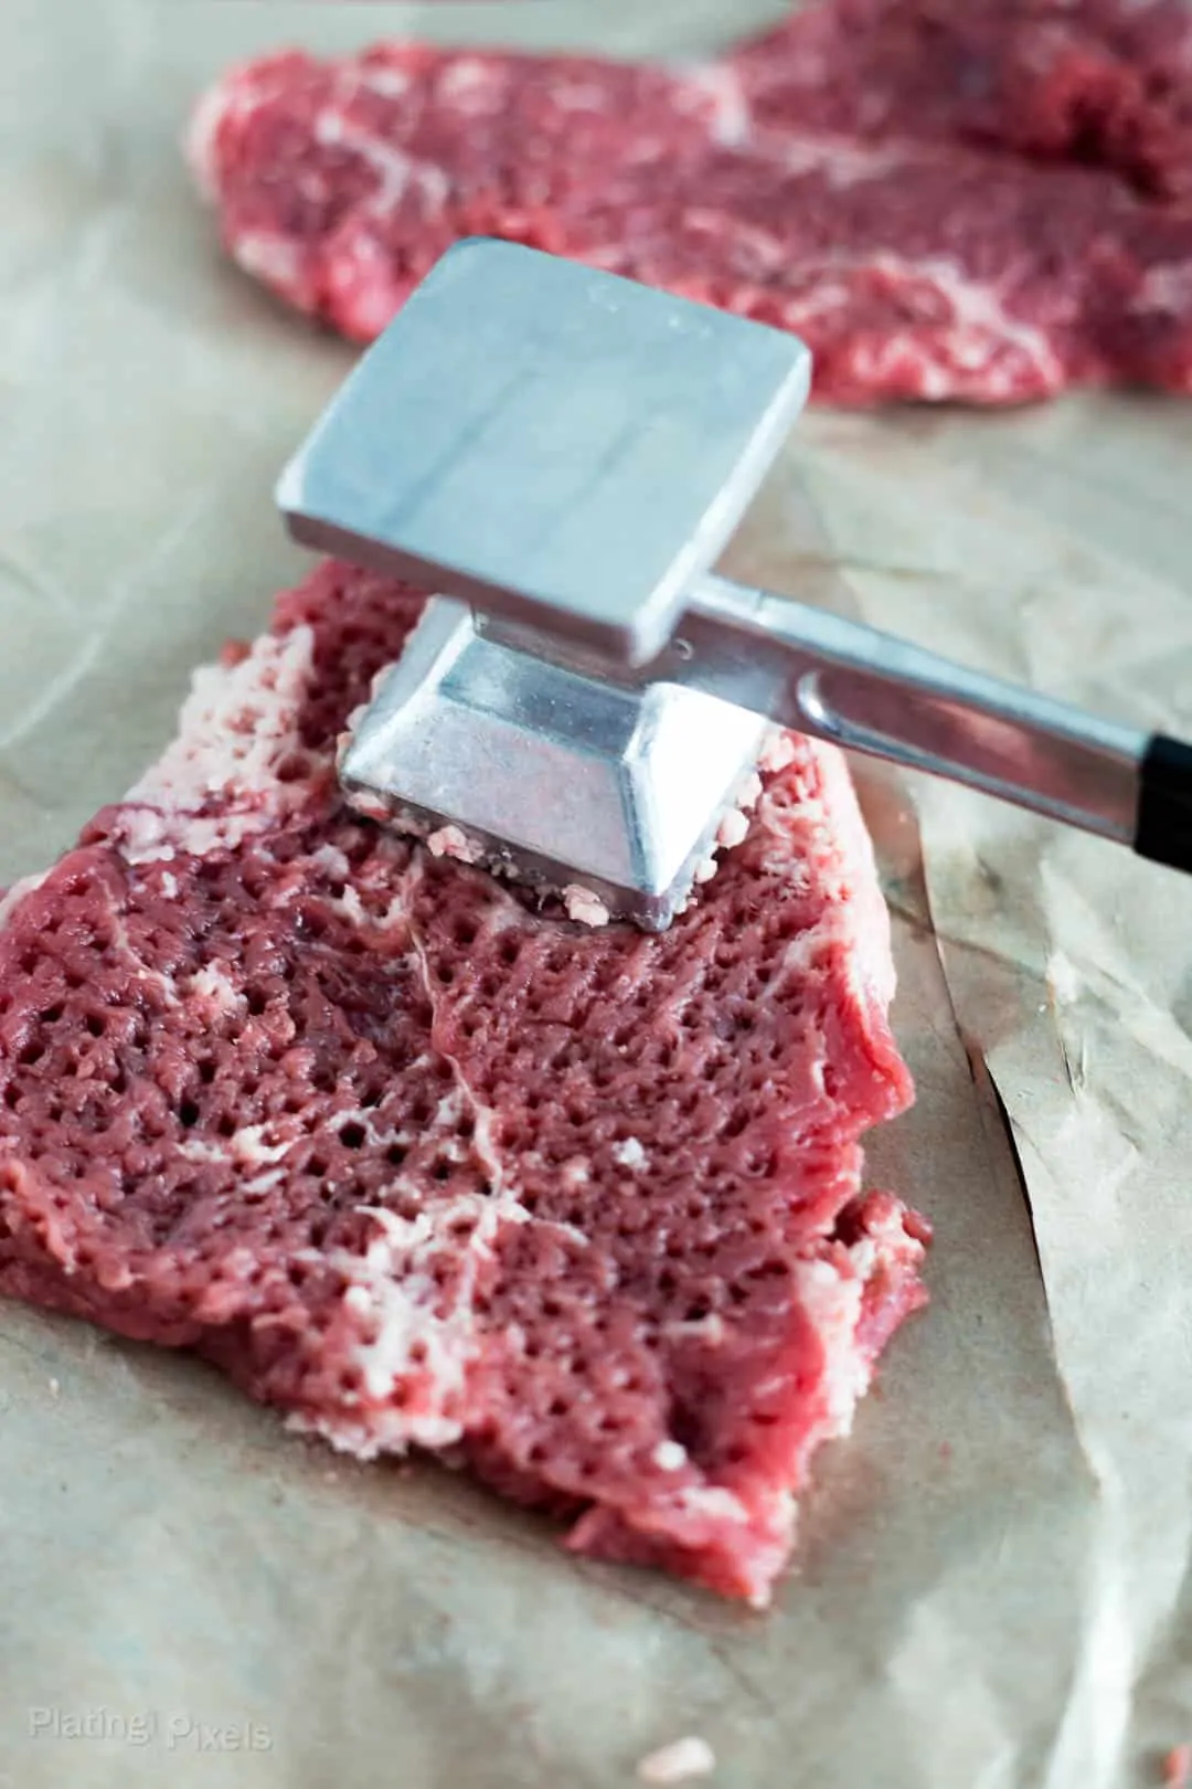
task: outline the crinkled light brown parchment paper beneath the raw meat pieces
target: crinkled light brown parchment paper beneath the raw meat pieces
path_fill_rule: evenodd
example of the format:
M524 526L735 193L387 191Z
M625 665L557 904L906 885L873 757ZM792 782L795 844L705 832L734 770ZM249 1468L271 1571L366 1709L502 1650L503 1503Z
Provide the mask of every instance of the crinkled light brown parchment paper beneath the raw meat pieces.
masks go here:
M272 479L350 351L222 261L195 93L286 41L670 54L777 13L0 0L0 884L304 565ZM733 549L779 589L799 474L870 621L1192 726L1192 406L815 413ZM953 789L865 800L919 1079L872 1179L936 1225L933 1306L774 1612L5 1304L0 1789L611 1789L686 1732L726 1789L1160 1780L1192 1737L1192 884Z

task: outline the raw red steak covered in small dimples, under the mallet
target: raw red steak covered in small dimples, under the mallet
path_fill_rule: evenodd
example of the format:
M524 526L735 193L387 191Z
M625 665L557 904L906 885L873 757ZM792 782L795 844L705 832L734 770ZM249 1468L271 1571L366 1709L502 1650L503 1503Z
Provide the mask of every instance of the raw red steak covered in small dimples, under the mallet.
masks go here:
M847 773L793 739L661 937L533 912L336 798L420 601L320 567L11 891L0 1290L761 1603L922 1299L861 1188L911 1090Z

